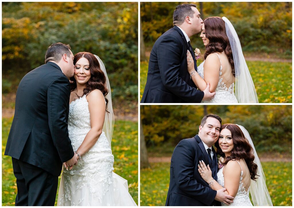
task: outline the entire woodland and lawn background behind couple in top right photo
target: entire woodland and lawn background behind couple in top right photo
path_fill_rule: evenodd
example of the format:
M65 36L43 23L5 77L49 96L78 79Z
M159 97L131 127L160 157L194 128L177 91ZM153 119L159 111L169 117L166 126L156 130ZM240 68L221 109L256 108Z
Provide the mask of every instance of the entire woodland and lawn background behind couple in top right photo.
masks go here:
M173 27L173 11L185 3L196 4L202 19L225 16L231 21L260 103L292 103L292 2L141 2L141 97L153 44ZM203 56L199 35L191 37L191 45Z

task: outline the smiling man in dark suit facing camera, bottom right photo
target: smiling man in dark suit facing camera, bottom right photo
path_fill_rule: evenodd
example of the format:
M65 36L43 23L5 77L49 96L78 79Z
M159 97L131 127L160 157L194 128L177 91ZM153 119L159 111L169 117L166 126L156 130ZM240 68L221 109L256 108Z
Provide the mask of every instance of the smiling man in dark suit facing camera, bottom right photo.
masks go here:
M218 140L220 126L221 118L208 114L201 121L198 135L178 143L171 157L166 206L220 206L220 202L233 202L234 197L226 195L225 188L212 190L198 172L199 161L203 160L217 180L218 161L212 145Z

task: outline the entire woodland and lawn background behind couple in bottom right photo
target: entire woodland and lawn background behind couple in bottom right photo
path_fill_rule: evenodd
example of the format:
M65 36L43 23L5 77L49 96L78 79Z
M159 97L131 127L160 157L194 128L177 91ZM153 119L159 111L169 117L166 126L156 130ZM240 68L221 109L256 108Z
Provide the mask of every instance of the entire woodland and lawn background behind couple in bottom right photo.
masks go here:
M222 124L244 126L263 165L274 206L292 205L291 105L141 105L141 206L164 206L171 155L184 138L198 133L206 114Z

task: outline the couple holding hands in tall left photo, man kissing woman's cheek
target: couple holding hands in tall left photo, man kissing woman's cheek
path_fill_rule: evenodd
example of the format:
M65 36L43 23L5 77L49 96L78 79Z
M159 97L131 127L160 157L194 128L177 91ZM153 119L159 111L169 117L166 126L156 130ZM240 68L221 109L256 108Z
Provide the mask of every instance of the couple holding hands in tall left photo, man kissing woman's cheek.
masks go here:
M59 206L137 206L127 180L113 172L105 66L97 55L70 49L53 43L45 64L19 83L5 150L16 177L15 205L54 206L63 163Z

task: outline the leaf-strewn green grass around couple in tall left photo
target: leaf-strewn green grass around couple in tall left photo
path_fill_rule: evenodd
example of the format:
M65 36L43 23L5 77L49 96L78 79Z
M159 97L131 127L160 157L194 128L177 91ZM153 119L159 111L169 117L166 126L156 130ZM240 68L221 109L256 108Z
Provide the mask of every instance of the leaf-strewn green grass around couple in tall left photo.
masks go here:
M2 206L14 206L17 193L11 157L4 156L11 122L12 118L2 119ZM116 121L111 149L114 172L128 180L129 192L138 204L138 122Z

